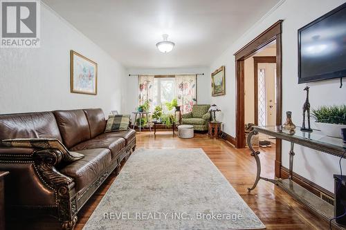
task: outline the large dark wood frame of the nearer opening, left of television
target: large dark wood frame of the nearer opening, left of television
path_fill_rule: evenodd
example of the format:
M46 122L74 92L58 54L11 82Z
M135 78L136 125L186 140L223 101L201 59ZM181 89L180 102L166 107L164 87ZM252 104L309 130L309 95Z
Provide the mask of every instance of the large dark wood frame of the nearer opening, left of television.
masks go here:
M258 35L253 41L235 53L235 88L236 88L236 137L235 147L245 147L245 128L244 128L244 60L251 57L255 52L259 52L264 46L272 41L276 42L276 124L282 123L282 20L277 21L273 26ZM280 178L281 168L281 141L276 140L275 153L275 176Z

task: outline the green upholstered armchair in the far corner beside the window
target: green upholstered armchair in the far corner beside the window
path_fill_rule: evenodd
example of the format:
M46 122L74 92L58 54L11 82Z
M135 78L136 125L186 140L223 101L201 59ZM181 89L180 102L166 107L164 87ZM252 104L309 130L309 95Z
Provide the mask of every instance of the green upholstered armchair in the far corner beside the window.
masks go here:
M181 124L190 124L196 131L208 131L208 121L210 121L210 104L195 104L191 113L185 113L181 117Z

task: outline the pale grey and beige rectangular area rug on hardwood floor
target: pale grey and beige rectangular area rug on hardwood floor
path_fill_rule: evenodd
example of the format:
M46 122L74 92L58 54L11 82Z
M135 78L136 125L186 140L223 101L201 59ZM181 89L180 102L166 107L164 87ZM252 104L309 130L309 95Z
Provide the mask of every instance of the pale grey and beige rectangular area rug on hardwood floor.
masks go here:
M202 149L142 148L83 229L264 228Z

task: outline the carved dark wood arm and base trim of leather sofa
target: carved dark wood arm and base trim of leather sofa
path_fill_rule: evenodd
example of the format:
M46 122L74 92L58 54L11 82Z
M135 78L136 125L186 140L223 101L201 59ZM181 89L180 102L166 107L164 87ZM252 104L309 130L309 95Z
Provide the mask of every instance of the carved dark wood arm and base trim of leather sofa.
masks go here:
M33 164L37 178L53 191L55 204L41 206L12 206L10 211L19 212L30 209L33 215L46 213L57 218L62 223L62 229L73 229L77 222L77 213L87 200L95 193L99 186L108 178L114 169L120 169L120 162L127 160L136 148L136 139L122 148L116 158L86 189L75 192L73 178L60 173L55 169L62 160L62 153L57 149L45 149L33 151L30 155L3 154L0 155L0 164ZM117 172L118 172L117 170Z

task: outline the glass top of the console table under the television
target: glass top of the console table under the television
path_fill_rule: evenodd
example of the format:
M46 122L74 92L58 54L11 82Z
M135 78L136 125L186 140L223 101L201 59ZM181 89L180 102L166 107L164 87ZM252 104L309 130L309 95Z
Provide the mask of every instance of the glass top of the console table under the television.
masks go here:
M340 151L346 150L346 143L343 142L343 139L336 137L328 137L324 135L321 131L313 129L311 133L304 132L300 130L300 127L295 128L295 133L290 133L286 129L282 129L282 126L253 126L257 131L266 131L267 135L270 133L283 135L285 137L291 137L297 140L306 140L311 141L316 144L323 144L326 146L331 146L333 148L338 148ZM260 132L261 133L261 132Z

